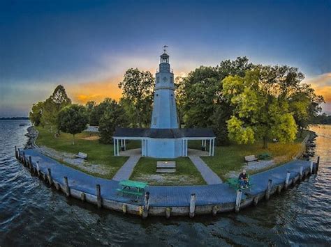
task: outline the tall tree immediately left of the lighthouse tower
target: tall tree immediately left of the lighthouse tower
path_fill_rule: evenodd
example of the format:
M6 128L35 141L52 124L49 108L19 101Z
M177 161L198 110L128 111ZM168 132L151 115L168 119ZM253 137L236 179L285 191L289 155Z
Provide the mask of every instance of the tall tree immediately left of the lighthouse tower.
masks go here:
M149 126L152 116L152 103L154 95L154 78L149 71L140 71L131 68L124 74L124 79L119 83L122 88L122 102L131 104L128 117L133 125L138 127Z

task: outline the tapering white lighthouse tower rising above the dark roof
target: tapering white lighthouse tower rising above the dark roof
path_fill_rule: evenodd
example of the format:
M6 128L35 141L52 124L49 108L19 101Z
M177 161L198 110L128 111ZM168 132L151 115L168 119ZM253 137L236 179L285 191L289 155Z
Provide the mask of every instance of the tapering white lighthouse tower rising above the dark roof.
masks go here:
M170 69L165 47L160 56L159 70L155 76L155 93L152 113L152 129L177 129L174 74Z

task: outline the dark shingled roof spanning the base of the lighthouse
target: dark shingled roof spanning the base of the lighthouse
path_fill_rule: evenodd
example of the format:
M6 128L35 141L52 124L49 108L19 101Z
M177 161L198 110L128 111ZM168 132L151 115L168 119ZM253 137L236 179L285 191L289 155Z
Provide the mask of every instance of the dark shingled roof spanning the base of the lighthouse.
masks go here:
M212 129L142 129L117 128L115 137L150 137L150 138L182 138L182 137L215 137Z

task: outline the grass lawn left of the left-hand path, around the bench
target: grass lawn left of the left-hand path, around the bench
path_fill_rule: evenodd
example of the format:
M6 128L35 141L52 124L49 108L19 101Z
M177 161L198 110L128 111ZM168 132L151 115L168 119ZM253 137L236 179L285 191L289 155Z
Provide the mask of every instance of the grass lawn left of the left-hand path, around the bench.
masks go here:
M73 136L71 134L61 133L59 137L54 137L54 132L51 133L49 129L38 127L38 138L36 144L39 146L45 145L47 148L52 148L60 152L68 152L78 154L78 152L87 153L87 161L91 164L100 164L107 170L107 173L101 175L98 173L89 173L97 177L104 177L111 179L117 170L124 164L128 157L115 157L113 145L105 145L99 143L98 140L91 138L97 134L92 132L82 132L75 135L75 145L72 144ZM90 139L88 139L90 138ZM61 163L65 163L61 161ZM66 164L71 166L70 164ZM71 166L78 170L78 167ZM82 170L88 173L86 170Z

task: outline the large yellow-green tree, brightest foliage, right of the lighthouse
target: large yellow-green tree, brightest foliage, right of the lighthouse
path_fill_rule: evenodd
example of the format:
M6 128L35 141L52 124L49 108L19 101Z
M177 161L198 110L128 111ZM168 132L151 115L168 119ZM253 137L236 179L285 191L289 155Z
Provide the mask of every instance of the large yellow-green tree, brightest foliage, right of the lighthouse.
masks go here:
M293 141L297 126L288 102L275 97L270 85L261 78L261 70L256 68L247 71L244 77L223 79L223 95L234 107L227 121L229 138L244 144L263 139L264 148L270 138L283 143Z

